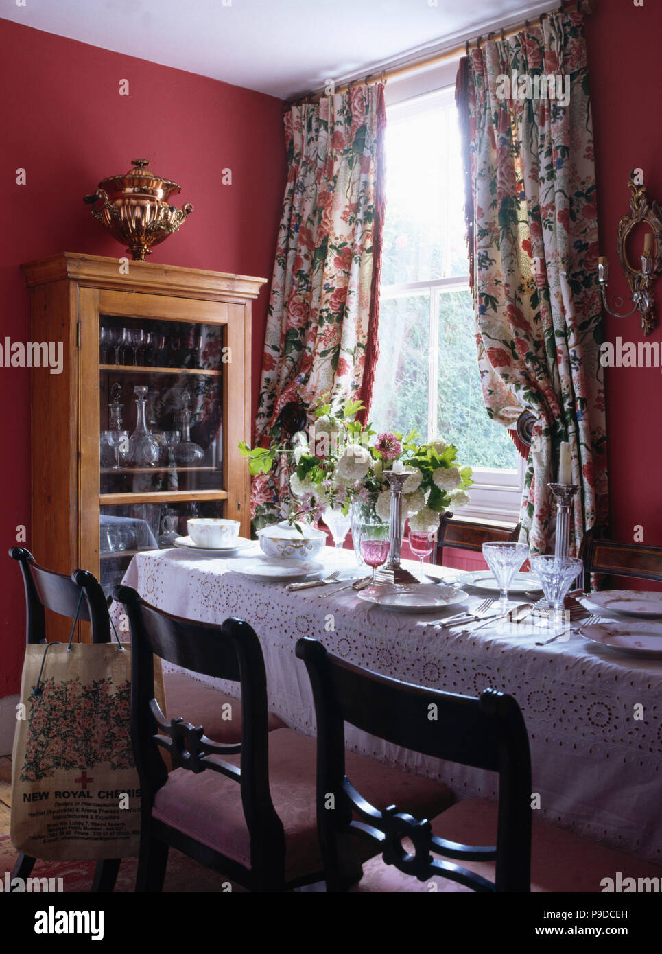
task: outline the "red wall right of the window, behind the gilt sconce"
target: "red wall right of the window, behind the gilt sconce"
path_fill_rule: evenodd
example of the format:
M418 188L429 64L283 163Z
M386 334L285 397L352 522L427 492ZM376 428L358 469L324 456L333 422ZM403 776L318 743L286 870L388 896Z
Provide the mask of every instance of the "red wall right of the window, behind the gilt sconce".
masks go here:
M644 171L649 195L662 202L662 5L643 0L598 0L587 18L590 91L595 133L601 254L610 259L610 294L630 290L616 257L616 227L630 207L631 170ZM658 311L662 282L657 286ZM605 340L643 341L636 315L606 316ZM662 321L652 341L662 344ZM659 367L607 368L610 521L614 540L662 545L662 416Z

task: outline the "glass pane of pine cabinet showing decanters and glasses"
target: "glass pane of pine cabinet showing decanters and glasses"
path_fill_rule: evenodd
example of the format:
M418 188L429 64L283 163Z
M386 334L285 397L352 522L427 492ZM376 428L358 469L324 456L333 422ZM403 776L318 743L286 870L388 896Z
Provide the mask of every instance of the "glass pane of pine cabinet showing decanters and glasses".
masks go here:
M225 516L223 324L99 314L99 564L108 595L140 550Z

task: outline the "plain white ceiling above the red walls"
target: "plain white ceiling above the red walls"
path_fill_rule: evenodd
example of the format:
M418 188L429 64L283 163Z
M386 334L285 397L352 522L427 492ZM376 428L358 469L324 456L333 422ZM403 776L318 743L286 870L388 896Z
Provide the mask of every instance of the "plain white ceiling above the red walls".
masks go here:
M288 98L443 49L546 0L0 0L0 16Z

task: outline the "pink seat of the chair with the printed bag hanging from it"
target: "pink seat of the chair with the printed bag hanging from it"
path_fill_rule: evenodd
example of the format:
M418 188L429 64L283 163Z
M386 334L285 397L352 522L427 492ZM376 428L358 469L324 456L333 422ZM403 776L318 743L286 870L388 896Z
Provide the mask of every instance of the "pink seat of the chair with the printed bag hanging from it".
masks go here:
M192 725L201 725L205 735L217 742L241 741L241 700L219 693L212 686L198 682L186 673L164 673L168 718L182 716ZM223 710L225 703L230 709ZM223 712L232 716L223 718ZM284 726L282 719L269 713L269 732Z

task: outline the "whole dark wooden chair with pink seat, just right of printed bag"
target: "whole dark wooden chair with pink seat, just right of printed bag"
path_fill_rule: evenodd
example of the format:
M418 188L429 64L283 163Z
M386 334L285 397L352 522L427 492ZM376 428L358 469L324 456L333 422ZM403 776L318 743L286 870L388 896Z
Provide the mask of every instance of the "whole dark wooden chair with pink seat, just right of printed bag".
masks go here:
M161 889L170 846L252 891L320 881L316 742L290 729L267 733L266 677L256 633L238 619L214 626L173 616L130 587L114 595L129 614L132 638L132 735L141 790L135 890ZM202 726L163 716L155 700L155 655L239 683L240 743L219 743ZM170 775L159 749L172 758ZM444 786L371 758L347 757L373 798L395 786L411 810L418 805L438 812L450 803ZM362 859L375 854L367 839L352 849Z

